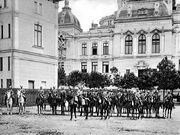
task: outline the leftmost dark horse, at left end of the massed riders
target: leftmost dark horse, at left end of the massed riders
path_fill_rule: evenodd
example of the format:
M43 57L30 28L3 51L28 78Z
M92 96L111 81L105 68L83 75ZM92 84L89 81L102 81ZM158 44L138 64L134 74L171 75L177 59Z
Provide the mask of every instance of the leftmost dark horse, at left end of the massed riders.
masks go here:
M43 104L44 104L44 97L42 94L39 93L37 98L36 98L36 105L37 105L38 114L42 114Z

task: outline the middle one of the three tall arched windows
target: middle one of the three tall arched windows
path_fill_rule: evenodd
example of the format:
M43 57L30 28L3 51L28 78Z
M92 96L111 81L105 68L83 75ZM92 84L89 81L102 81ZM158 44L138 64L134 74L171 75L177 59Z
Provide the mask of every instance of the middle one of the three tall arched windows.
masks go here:
M138 39L138 53L146 53L146 36L144 34L141 34Z

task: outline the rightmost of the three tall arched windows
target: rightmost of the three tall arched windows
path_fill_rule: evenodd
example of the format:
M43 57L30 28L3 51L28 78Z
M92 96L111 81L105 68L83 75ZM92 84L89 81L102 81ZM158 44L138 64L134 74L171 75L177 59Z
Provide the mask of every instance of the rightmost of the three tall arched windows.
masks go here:
M152 36L152 53L160 53L160 36L158 33Z

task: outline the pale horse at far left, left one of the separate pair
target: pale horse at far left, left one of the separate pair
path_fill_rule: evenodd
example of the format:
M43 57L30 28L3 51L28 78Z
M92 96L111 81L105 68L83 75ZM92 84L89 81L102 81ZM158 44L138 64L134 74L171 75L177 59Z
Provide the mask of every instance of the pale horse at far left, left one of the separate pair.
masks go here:
M13 91L7 91L5 94L5 104L7 107L7 114L12 115L13 110Z

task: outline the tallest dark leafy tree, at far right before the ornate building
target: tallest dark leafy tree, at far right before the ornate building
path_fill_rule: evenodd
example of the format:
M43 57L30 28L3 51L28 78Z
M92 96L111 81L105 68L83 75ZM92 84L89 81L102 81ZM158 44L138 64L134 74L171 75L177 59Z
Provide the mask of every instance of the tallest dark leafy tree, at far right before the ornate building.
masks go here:
M158 68L158 87L163 90L173 90L178 88L178 72L175 64L165 57L157 66Z

